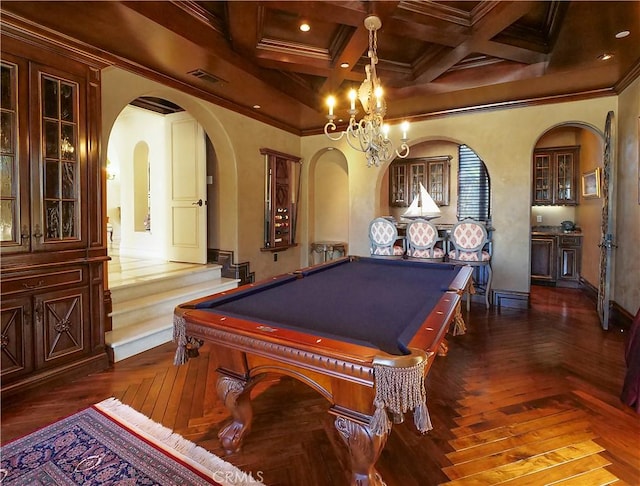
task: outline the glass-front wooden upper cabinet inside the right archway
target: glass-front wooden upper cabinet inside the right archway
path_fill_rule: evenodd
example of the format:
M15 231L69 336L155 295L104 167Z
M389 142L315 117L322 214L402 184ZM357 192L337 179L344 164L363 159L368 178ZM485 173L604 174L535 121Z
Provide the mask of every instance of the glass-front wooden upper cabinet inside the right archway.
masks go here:
M577 204L579 162L580 147L577 146L536 150L533 155L533 204Z

